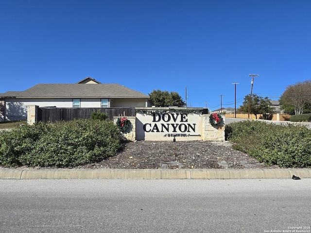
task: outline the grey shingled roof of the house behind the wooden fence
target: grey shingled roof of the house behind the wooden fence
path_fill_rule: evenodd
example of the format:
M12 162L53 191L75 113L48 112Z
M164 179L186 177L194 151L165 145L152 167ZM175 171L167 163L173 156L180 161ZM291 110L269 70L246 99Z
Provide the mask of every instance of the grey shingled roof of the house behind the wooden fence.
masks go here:
M120 84L37 84L25 91L8 91L0 98L149 98Z

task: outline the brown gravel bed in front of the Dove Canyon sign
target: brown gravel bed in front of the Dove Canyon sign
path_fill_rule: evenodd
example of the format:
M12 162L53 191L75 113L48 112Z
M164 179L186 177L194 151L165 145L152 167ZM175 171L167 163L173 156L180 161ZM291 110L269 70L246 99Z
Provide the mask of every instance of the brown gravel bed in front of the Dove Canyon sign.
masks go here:
M278 168L265 166L232 149L228 141L134 141L122 144L116 156L78 168Z

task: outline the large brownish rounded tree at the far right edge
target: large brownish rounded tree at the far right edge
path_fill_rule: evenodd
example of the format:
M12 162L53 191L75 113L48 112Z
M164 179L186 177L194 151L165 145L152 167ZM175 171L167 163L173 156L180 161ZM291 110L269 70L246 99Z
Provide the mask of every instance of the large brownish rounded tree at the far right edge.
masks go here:
M289 114L300 115L311 112L311 80L288 85L279 103Z

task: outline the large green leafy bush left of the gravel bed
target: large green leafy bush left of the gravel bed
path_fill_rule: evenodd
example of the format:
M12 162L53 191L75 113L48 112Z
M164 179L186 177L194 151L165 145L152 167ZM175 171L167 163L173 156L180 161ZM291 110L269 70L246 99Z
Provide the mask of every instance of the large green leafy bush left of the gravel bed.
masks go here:
M111 121L37 123L0 134L0 164L78 166L115 155L120 138Z

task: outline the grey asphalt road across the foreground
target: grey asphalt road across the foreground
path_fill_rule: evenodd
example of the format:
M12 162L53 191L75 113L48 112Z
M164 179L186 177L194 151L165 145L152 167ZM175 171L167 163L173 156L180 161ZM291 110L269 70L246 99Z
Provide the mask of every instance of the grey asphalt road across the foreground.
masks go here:
M310 232L310 193L311 179L0 180L0 232Z

